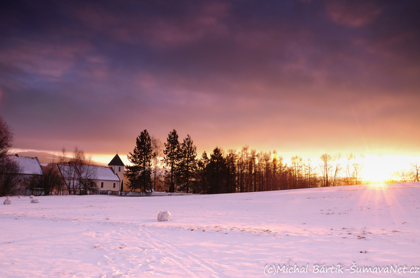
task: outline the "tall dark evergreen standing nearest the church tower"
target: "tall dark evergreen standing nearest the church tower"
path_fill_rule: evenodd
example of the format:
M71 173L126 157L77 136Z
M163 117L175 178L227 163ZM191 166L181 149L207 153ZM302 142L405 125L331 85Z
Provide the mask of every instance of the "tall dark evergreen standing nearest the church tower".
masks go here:
M143 130L136 139L136 147L133 153L127 155L132 166L126 166L126 177L130 181L131 189L146 191L151 188L151 158L152 148L150 135Z

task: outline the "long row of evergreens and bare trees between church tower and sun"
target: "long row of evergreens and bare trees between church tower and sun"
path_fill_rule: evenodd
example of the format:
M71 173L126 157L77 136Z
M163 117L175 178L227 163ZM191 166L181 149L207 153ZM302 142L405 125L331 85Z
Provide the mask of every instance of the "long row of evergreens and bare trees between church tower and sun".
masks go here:
M197 158L191 137L182 142L176 130L167 142L143 130L127 156L130 189L218 194L360 185L365 166L363 155L324 153L319 162L296 155L289 163L277 151L260 151L245 145L240 151L220 147ZM162 158L159 159L160 155ZM159 173L160 169L164 171Z

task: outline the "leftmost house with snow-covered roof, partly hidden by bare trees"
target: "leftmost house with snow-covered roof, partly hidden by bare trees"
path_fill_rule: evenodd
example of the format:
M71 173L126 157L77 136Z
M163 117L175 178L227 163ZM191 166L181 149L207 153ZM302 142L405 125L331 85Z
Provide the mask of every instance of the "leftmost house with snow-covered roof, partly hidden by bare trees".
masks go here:
M19 156L18 154L9 155L9 159L18 162L19 167L21 168L20 173L16 173L20 176L20 181L14 190L15 192L13 193L18 195L25 195L26 186L29 179L34 176L42 176L44 174L41 163L38 160L38 157Z

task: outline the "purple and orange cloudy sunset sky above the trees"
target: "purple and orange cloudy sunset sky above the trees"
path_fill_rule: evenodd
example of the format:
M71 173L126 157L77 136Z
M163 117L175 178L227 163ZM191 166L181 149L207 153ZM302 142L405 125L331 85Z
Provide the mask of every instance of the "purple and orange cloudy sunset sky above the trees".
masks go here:
M1 1L0 115L18 150L420 156L420 2Z

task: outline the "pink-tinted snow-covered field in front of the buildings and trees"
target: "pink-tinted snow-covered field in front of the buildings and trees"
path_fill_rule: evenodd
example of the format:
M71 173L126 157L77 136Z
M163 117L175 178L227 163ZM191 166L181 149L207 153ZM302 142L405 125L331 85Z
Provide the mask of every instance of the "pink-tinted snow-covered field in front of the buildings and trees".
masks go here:
M0 206L0 277L420 277L419 197L420 183L11 197ZM157 222L160 210L170 221ZM305 273L273 272L283 265Z

